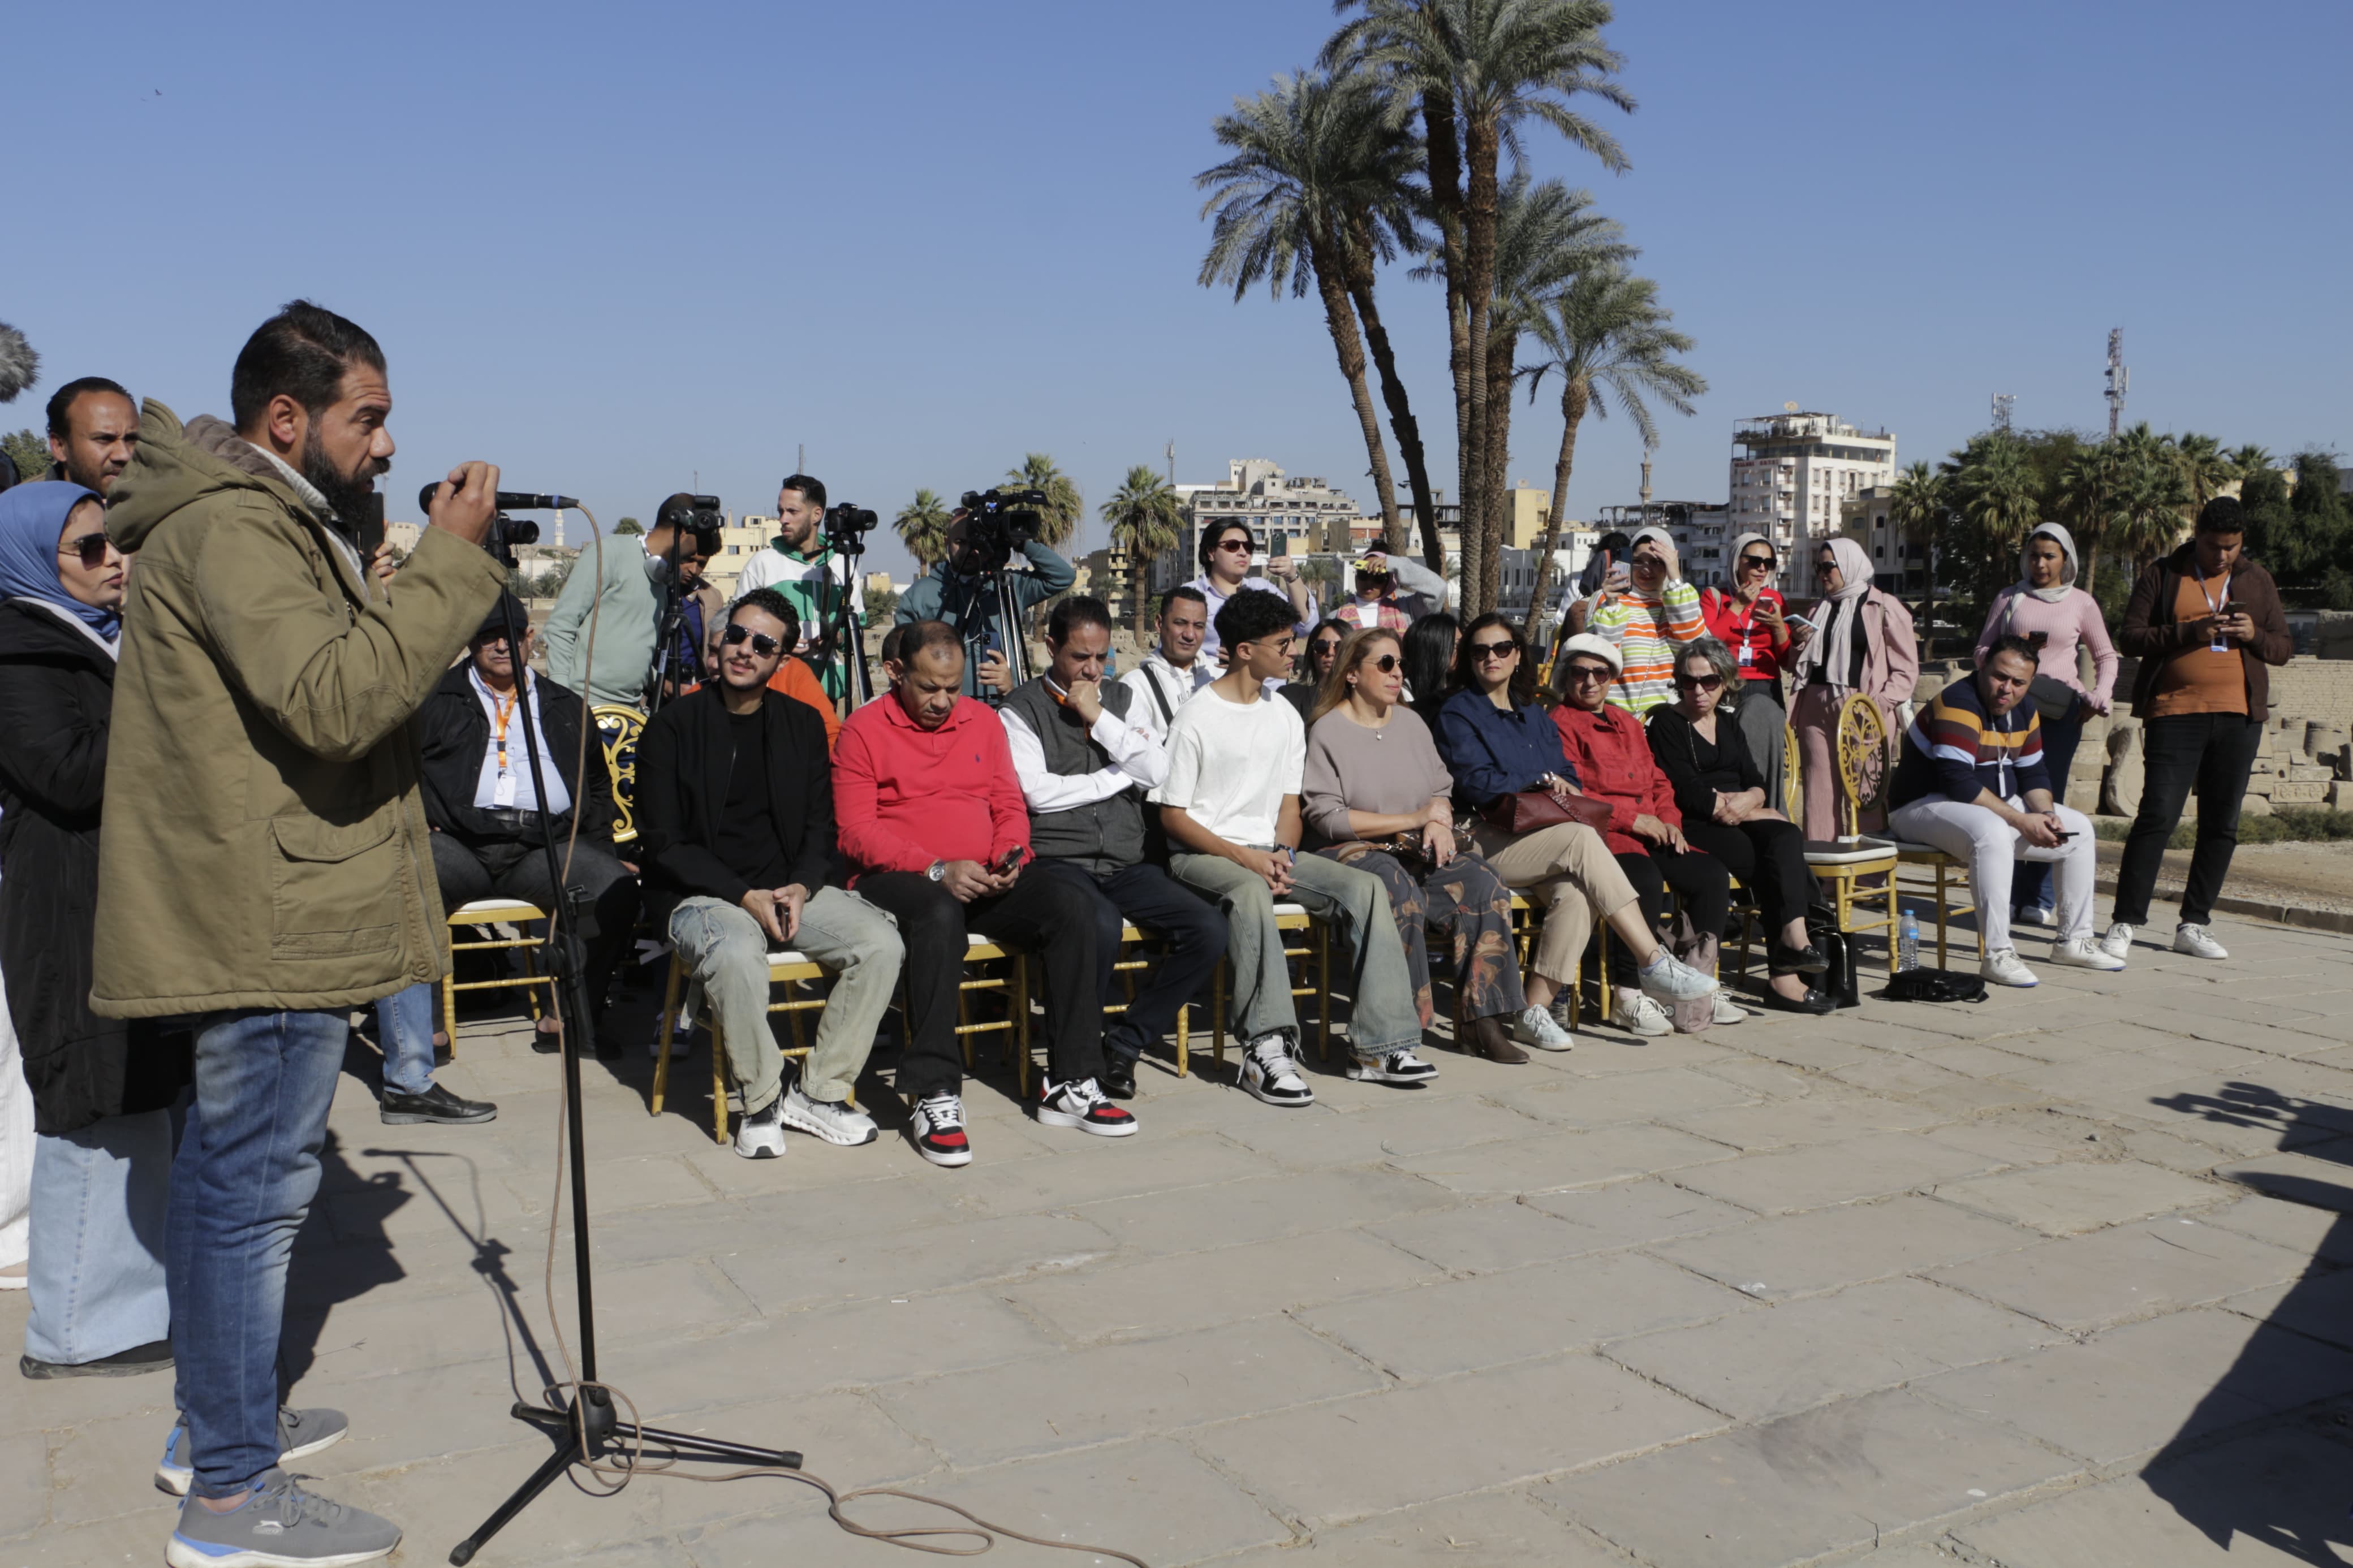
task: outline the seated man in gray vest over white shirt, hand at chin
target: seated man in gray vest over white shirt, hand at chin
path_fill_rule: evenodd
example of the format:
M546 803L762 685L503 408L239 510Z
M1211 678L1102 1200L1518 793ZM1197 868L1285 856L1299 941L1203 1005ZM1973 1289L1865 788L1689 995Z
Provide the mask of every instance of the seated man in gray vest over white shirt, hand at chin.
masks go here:
M1101 599L1061 599L1045 630L1052 663L1016 686L998 717L1031 813L1038 875L1094 900L1104 1009L1120 1006L1113 961L1120 929L1134 924L1167 945L1167 957L1104 1018L1104 1093L1136 1093L1136 1058L1176 1023L1226 952L1226 917L1146 858L1144 792L1167 773L1167 752L1136 708L1136 693L1104 682L1111 611Z

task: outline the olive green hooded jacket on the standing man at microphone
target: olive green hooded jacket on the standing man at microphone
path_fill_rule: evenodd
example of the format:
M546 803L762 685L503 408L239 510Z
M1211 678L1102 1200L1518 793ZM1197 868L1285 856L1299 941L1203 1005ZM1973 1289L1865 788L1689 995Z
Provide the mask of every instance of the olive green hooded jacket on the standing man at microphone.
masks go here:
M426 529L386 595L268 458L153 400L106 531L139 559L89 1006L318 1011L438 978L409 717L506 574Z

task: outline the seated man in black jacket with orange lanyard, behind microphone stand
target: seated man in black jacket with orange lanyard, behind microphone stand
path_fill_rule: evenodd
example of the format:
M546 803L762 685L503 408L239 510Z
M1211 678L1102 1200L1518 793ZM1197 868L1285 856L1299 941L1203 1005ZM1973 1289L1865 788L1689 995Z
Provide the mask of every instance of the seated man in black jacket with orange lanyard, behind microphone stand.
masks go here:
M614 964L638 919L638 879L612 853L612 771L588 736L581 769L581 726L588 712L555 682L532 675L532 635L522 632L522 656L506 646L506 611L529 628L522 604L501 595L466 644L466 663L449 670L416 715L424 750L426 820L433 825L433 877L442 910L478 898L520 898L555 907L548 860L539 846L539 797L532 762L522 750L522 717L515 670L522 670L532 731L539 736L539 773L548 785L548 825L555 856L572 856L569 882L588 893L579 933L588 945L588 999L602 1009ZM579 778L574 778L579 773ZM579 799L574 799L579 785ZM574 816L579 839L572 837ZM598 1018L591 1018L591 1037ZM555 1048L555 1020L541 1018L532 1041Z

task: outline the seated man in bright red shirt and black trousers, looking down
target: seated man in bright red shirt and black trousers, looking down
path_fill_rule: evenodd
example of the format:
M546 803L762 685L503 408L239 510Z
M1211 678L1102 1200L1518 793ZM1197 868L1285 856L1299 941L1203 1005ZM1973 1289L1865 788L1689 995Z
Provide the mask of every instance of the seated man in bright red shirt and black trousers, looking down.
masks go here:
M1104 1098L1104 1001L1094 903L1040 877L1028 804L998 715L969 696L965 644L944 621L899 628L889 696L842 724L833 750L833 813L852 886L899 922L906 943L908 1041L899 1095L908 1133L934 1166L972 1161L965 1133L955 994L965 938L1024 947L1045 969L1047 1084L1035 1114L1122 1138L1136 1119Z

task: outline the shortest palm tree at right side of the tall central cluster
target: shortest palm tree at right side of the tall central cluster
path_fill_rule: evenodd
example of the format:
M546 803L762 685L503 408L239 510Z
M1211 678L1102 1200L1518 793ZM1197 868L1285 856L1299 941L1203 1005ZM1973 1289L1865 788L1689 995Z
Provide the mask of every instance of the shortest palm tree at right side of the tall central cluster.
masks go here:
M1689 414L1692 400L1708 390L1706 376L1675 360L1692 353L1692 339L1675 331L1668 324L1673 320L1675 313L1659 303L1659 284L1612 261L1579 273L1527 322L1529 336L1546 355L1522 367L1529 402L1548 374L1560 376L1560 458L1553 463L1553 515L1544 520L1544 538L1537 541L1537 581L1527 597L1529 628L1544 609L1560 520L1569 512L1577 425L1588 411L1607 418L1614 397L1642 435L1642 444L1654 447L1659 423L1649 414L1649 400ZM1464 571L1468 597L1468 567Z

